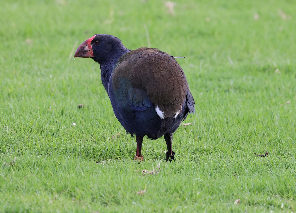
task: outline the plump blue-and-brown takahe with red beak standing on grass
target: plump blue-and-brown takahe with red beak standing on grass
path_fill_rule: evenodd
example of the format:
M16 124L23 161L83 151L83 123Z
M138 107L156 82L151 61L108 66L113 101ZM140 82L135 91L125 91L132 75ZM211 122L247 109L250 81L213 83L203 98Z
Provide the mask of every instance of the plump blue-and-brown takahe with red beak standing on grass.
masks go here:
M99 63L101 80L115 116L131 136L136 136L135 160L141 155L143 137L164 136L173 160L173 133L188 113L194 113L194 99L180 65L173 56L158 49L129 50L120 39L96 34L80 44L74 57Z

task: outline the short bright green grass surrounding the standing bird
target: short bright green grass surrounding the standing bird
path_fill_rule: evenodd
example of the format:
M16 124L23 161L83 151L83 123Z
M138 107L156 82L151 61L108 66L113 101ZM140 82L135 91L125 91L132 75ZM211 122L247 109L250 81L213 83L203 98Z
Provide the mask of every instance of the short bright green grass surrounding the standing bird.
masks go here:
M2 2L0 212L295 212L295 9L184 0L171 15L165 1ZM73 60L96 33L147 46L145 27L151 47L186 56L178 62L196 102L172 163L164 139L144 139L146 160L133 162L135 139L99 65Z

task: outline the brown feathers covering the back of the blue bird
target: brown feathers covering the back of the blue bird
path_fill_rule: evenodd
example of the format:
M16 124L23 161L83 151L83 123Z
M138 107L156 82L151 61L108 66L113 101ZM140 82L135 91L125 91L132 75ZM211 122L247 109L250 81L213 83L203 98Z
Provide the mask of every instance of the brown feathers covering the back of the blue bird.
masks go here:
M180 65L167 53L146 47L130 51L119 59L112 78L115 90L118 79L128 78L133 88L147 91L165 117L182 112L188 83Z

